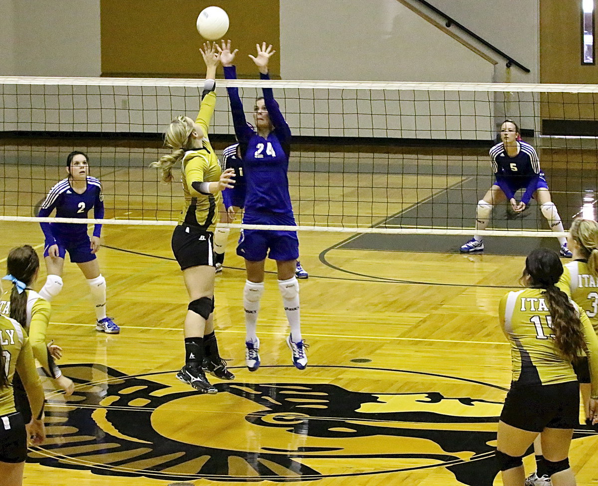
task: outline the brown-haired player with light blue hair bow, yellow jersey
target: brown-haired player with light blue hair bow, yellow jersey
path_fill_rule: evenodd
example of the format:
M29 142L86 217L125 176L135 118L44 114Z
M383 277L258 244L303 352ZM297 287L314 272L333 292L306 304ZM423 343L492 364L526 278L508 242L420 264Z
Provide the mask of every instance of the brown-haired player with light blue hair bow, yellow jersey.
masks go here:
M10 294L2 295L0 313L16 320L29 335L29 343L33 350L33 357L41 364L42 370L54 384L65 390L65 396L71 396L75 389L72 380L62 374L54 363L62 356L62 348L51 345L48 347L46 333L50 321L50 302L41 297L32 287L39 272L39 257L30 245L13 248L8 253L7 276L13 284ZM23 383L16 373L13 379L14 400L17 410L28 423L31 419L29 402L23 388Z

